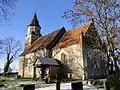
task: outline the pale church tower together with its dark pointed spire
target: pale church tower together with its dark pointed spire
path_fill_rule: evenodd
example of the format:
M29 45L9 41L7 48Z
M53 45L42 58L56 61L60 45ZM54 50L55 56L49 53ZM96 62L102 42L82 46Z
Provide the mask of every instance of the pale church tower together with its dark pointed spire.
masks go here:
M28 25L27 36L25 37L25 49L31 46L36 39L42 36L40 30L41 27L35 13L32 22Z

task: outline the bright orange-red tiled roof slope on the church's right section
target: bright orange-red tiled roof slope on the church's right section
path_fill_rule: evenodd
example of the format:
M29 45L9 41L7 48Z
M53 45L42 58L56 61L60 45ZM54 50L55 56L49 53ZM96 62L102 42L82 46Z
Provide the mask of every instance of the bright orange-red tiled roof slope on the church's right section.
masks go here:
M59 42L55 45L55 48L62 48L65 46L69 46L76 43L82 43L81 35L82 33L85 34L92 23L85 24L83 26L79 26L72 30L68 30L59 40Z

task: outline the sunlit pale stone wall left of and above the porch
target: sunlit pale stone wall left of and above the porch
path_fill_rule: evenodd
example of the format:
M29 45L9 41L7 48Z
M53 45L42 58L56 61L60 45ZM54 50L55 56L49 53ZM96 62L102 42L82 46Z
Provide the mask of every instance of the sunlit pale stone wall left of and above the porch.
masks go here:
M24 77L33 77L34 72L34 62L37 57L42 56L45 57L46 55L49 55L49 50L46 50L45 48L37 50L34 53L26 54L25 56L19 57L19 75ZM36 68L36 77L40 77L41 75L41 69Z

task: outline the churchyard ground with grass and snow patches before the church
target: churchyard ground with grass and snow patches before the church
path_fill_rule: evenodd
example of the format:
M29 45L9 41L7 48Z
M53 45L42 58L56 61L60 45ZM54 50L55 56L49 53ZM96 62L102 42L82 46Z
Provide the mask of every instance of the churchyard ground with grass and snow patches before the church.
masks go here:
M83 82L83 90L105 90L103 89L103 81L89 80L72 80L66 79L66 81L60 82L60 89L63 90L72 90L71 84L74 82ZM53 83L46 84L45 81L32 78L20 78L17 75L14 76L0 76L0 90L22 90L24 85L35 85L35 89L31 90L56 90L57 81Z

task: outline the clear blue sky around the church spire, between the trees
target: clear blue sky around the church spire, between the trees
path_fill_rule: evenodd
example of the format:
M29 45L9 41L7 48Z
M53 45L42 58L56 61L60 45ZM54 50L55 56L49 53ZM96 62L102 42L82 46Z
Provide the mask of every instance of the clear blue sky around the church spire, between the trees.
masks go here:
M27 25L31 22L36 11L41 33L43 35L52 32L61 27L67 30L72 29L72 25L63 19L63 13L66 9L70 9L74 0L18 0L16 8L13 10L14 16L0 25L0 39L9 36L21 41L24 47L24 38L27 33ZM0 60L2 66L4 61ZM12 68L17 68L18 59L12 64Z

